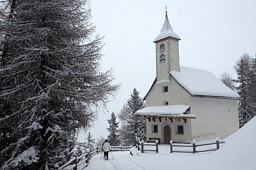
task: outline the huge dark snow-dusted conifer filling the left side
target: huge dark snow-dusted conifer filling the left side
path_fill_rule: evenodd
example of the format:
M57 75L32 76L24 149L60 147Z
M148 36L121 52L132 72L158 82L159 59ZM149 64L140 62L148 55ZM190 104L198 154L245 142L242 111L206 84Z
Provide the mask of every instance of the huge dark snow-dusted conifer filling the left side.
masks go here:
M87 1L0 3L0 169L48 169L118 86Z

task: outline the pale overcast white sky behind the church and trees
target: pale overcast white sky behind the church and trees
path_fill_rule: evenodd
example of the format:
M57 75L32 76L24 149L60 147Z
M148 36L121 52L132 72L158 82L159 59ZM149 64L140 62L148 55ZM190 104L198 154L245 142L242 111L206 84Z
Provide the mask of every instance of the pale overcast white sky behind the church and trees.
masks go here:
M224 71L236 78L233 65L243 53L256 54L255 0L91 0L97 33L104 36L103 70L113 69L120 92L99 113L94 138L107 136L110 113L120 112L134 87L143 98L155 78L155 43L165 20L179 41L181 66L211 71L219 77ZM82 140L83 141L83 140Z

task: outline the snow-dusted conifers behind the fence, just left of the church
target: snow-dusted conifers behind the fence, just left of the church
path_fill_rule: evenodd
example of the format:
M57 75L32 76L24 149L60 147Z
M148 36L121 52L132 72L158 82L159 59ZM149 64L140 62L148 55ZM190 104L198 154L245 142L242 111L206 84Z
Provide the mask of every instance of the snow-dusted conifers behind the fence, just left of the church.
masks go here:
M107 137L110 146L135 146L136 138L146 139L146 120L141 118L135 118L136 111L145 107L145 103L141 97L139 97L139 91L134 88L131 97L127 100L127 103L122 106L120 113L117 115L113 112L108 121L109 127L107 128L109 135ZM120 122L117 122L117 118ZM119 126L121 123L121 126ZM90 143L94 143L94 146L101 146L105 141L101 136L95 142L89 133L87 136L87 147L91 148Z

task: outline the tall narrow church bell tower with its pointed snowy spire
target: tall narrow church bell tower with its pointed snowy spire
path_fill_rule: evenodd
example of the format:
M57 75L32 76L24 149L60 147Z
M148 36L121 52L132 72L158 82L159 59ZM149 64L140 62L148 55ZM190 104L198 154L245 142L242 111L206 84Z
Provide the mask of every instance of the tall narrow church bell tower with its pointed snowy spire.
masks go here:
M173 31L165 11L165 22L154 39L157 80L170 80L169 71L179 71L179 36Z

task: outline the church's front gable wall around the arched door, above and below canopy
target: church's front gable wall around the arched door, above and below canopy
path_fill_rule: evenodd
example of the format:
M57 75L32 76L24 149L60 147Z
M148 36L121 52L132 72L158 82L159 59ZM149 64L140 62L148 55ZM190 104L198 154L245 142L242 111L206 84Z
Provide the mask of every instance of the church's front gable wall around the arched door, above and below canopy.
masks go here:
M162 86L168 85L168 92L162 92ZM176 105L176 104L186 104L188 106L191 105L191 95L184 90L173 78L171 78L170 83L162 83L162 84L155 84L151 92L148 93L146 97L146 106L164 106L164 101L168 101L168 105ZM184 120L178 122L177 120L171 120L162 118L162 121L159 122L158 118L155 119L155 122L146 121L146 132L147 132L147 139L148 138L160 138L161 143L164 141L164 127L165 125L169 125L171 128L172 134L171 138L172 141L191 141L192 140L192 132L191 132L191 121L187 119L186 123ZM158 125L158 133L153 132L153 125ZM177 134L177 126L183 125L184 126L184 134Z

